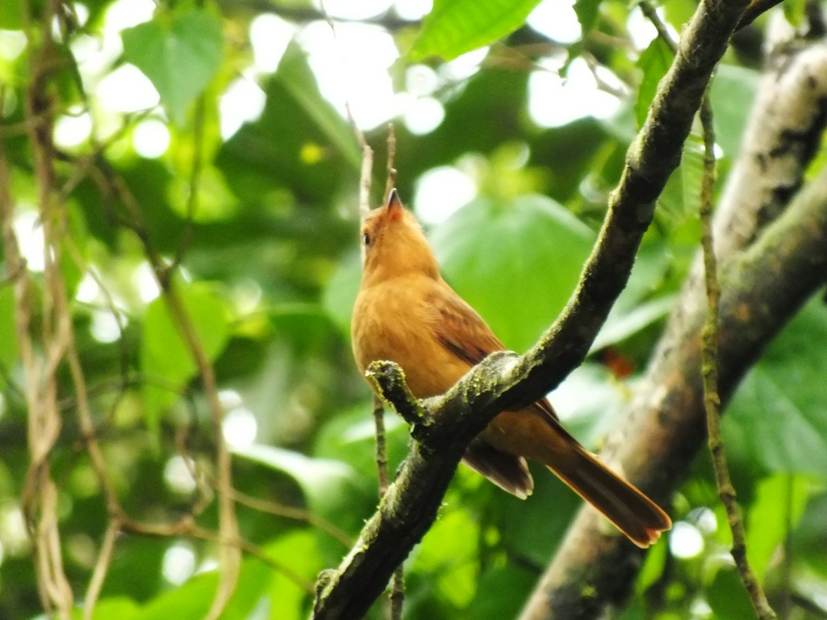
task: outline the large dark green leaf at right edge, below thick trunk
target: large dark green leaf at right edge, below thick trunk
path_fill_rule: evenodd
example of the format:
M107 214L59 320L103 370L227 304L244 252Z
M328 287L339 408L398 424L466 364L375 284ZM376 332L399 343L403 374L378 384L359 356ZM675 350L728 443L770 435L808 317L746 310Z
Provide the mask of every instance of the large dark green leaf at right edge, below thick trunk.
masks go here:
M735 393L722 423L745 470L827 477L827 308L809 303Z

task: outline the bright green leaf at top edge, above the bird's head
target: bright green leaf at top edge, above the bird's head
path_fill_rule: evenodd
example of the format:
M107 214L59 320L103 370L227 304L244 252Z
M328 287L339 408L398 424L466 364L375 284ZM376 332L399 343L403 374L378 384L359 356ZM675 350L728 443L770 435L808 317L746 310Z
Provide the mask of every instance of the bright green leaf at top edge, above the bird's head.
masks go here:
M445 60L499 41L525 22L539 0L435 0L409 52L413 62Z

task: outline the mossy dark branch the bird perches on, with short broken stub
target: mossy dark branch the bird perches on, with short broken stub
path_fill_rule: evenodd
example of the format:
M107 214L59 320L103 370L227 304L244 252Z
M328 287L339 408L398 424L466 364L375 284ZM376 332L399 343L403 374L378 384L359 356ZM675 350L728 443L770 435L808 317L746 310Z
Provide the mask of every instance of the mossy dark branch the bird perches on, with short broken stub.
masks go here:
M492 355L424 408L390 364L371 370L385 398L414 423L408 459L379 510L337 570L323 574L314 618L360 618L430 527L471 439L506 408L532 403L581 363L624 288L654 203L681 147L712 70L747 2L702 2L633 142L603 229L562 317L523 357ZM424 418L428 423L415 423Z

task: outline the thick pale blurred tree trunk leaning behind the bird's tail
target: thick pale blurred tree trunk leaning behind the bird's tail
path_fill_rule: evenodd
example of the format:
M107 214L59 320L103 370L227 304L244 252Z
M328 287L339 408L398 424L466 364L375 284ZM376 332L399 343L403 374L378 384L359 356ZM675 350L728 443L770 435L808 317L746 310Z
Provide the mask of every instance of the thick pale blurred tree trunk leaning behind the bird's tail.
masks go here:
M781 269L777 265L784 260L782 255L770 254L773 265L751 274L736 276L733 270L734 257L755 241L767 222L777 219L786 208L801 212L807 197L819 199L819 187L814 185L796 201L797 207L787 206L801 187L804 170L814 155L813 145L819 144L825 129L827 42L809 41L804 46L800 42L773 41L771 46L777 51L770 56L770 68L759 85L739 160L729 174L713 222L715 252L723 263L721 286L727 292L720 315L723 337L719 340L719 390L724 403L761 347L825 278L823 268L814 273L817 257L824 252L818 242L814 243L813 265L783 268L788 270L785 277L795 281L786 281L782 276L773 277L772 282L765 279ZM825 195L820 199L824 200ZM792 229L797 220L794 217L786 221ZM807 226L799 226L807 232ZM823 231L816 227L811 232L819 236ZM769 239L765 236L761 244L748 250L753 261L761 252L777 251ZM788 238L791 243L798 239ZM743 262L745 256L739 260ZM796 255L795 260L807 260L807 255ZM660 498L666 498L680 483L686 466L705 441L699 371L700 326L705 314L700 256L695 267L653 354L646 378L629 406L629 417L609 438L604 453L604 458L621 464L638 486ZM805 279L796 269L803 269ZM758 274L758 279L739 279L753 274ZM745 286L758 285L772 303L781 304L782 310L766 306L765 311L757 290L751 292L754 298L740 292ZM793 285L804 285L804 289L789 289ZM734 317L733 312L738 316ZM743 334L742 340L733 342L735 334ZM598 524L593 514L581 511L528 602L523 620L548 618L549 614L593 618L605 605L619 604L628 597L641 554L622 541L603 536ZM584 587L584 583L590 587ZM591 596L581 598L586 590Z

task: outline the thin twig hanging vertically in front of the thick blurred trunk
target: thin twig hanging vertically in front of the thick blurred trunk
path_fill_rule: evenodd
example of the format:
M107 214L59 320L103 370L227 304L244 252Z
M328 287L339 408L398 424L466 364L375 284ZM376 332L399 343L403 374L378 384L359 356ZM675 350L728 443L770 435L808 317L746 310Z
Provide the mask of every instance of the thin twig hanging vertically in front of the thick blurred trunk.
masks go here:
M715 484L718 495L726 508L729 529L732 531L732 556L738 568L743 587L747 589L755 613L760 620L776 618L761 584L753 573L747 559L747 537L743 528L741 510L735 498L735 488L729 477L724 441L720 431L721 401L718 393L718 308L720 287L712 238L712 190L715 185L715 130L712 126L712 106L709 89L700 106L700 122L704 130L704 175L700 186L700 229L701 245L704 250L704 270L707 297L706 321L701 335L701 377L704 386L704 408L706 426L715 469Z

